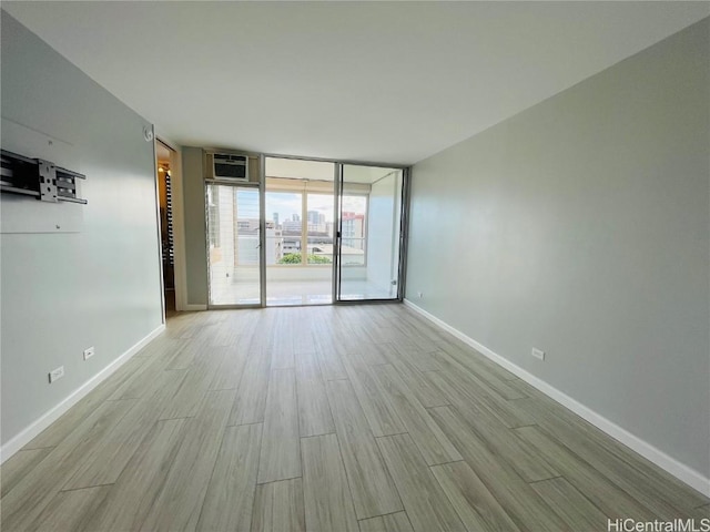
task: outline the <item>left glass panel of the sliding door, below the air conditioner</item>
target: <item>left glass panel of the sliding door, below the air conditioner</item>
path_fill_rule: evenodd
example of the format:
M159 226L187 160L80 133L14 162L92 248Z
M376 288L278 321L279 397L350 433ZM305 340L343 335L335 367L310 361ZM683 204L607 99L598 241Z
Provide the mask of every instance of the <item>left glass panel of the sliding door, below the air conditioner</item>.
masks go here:
M261 305L260 192L206 185L210 305Z

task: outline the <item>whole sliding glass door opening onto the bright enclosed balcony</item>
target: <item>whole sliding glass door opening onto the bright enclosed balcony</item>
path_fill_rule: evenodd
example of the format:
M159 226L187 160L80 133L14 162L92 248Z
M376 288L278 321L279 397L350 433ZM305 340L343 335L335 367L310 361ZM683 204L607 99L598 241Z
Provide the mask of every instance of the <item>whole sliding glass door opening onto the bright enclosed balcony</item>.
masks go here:
M403 168L262 157L205 183L210 307L402 297Z

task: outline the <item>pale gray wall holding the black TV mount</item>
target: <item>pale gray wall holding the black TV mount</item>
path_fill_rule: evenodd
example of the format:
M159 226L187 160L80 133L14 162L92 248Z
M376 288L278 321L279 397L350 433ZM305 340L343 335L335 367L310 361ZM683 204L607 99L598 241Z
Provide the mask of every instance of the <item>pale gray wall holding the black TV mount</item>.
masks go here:
M160 327L162 307L150 124L6 12L1 50L3 147L45 150L87 174L89 201L2 195L4 444ZM34 232L38 219L61 231ZM61 365L65 377L49 385Z

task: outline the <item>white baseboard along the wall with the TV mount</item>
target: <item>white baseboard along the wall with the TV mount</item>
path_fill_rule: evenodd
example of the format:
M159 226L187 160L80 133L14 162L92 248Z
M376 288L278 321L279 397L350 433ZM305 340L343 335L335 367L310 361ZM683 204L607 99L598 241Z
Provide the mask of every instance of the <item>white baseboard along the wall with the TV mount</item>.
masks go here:
M123 366L133 355L140 351L143 347L145 347L153 338L160 335L163 330L165 330L165 325L161 325L152 332L150 332L145 338L140 340L138 344L129 348L125 352L123 352L119 358L109 364L105 368L94 375L87 382L81 385L74 391L72 391L69 397L62 400L54 408L42 415L38 420L30 423L29 427L24 428L19 434L9 440L2 449L0 449L0 463L4 462L12 454L18 452L22 447L29 443L32 438L42 432L45 428L57 421L67 410L77 405L82 398L84 398L91 390L93 390L97 386L103 382L111 374L113 374L116 369Z

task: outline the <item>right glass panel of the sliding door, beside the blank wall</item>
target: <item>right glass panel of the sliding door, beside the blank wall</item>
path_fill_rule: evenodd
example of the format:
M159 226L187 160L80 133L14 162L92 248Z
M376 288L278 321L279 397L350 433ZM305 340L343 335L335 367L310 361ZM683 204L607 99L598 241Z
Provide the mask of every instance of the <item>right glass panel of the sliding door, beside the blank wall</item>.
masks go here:
M343 165L338 300L397 299L403 181L400 168Z

